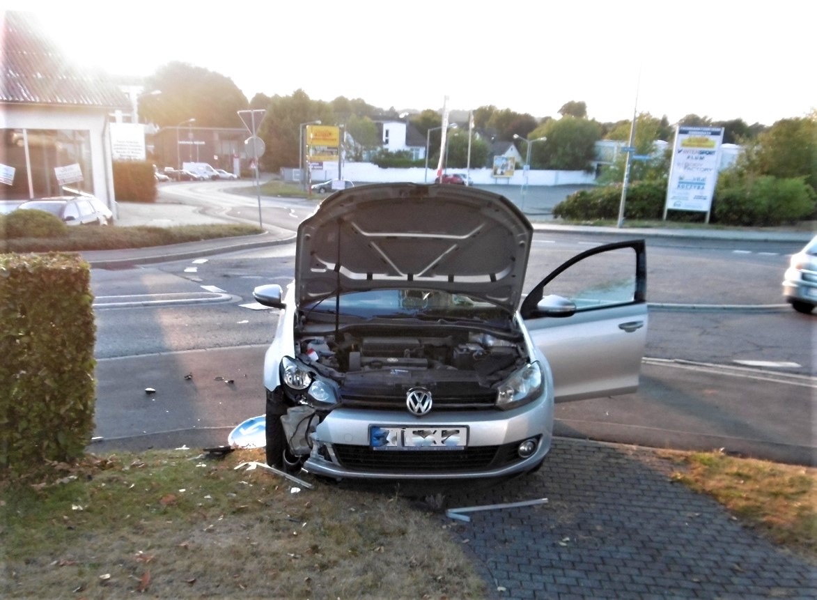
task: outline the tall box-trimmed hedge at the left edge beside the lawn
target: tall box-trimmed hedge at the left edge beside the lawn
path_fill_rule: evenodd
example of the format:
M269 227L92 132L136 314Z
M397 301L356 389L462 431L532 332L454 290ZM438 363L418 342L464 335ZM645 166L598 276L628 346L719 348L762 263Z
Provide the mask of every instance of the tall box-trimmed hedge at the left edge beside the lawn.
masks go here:
M76 459L91 441L90 286L77 255L0 255L0 472Z

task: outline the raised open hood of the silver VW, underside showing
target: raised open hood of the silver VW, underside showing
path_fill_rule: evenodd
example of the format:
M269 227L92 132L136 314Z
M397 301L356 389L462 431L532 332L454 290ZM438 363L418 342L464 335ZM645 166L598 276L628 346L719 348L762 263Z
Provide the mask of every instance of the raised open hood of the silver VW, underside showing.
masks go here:
M339 190L297 234L299 306L343 292L439 289L519 306L533 227L504 196L390 183Z

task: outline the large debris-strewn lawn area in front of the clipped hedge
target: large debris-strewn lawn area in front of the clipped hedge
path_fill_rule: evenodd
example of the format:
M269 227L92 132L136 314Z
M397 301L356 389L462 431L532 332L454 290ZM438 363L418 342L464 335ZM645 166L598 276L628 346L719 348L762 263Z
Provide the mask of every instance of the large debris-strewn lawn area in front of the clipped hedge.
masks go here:
M480 598L462 548L406 499L297 484L190 450L88 456L6 482L4 598ZM42 477L42 475L41 475Z

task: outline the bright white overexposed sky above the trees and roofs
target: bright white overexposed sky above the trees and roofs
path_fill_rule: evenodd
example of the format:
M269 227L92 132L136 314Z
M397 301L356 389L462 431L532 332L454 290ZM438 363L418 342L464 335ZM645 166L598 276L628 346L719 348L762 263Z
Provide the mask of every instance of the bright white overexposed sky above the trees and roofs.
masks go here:
M302 89L396 110L484 105L590 118L771 125L817 108L815 0L54 2L35 13L75 64L148 76L179 60L252 99Z

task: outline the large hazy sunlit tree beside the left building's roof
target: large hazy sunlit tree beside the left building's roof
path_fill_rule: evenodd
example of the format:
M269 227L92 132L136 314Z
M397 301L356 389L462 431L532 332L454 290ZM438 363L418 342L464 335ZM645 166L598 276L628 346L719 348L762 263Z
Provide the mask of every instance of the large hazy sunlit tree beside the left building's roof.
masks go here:
M202 67L171 62L145 81L145 88L161 90L140 105L140 112L159 127L175 127L196 119L196 127L243 128L238 111L247 98L233 80Z

